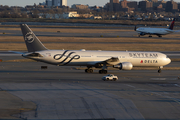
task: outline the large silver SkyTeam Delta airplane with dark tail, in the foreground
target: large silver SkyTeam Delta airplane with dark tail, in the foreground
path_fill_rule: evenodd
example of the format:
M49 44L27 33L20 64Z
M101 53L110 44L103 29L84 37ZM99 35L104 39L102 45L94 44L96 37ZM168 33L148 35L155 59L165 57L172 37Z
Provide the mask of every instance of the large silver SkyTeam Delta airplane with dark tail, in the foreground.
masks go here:
M100 74L106 74L108 67L119 70L131 70L133 67L159 67L171 60L160 52L127 51L86 51L86 50L48 50L26 24L20 25L28 53L25 58L57 66L87 66L86 73L93 73L93 67L100 68Z

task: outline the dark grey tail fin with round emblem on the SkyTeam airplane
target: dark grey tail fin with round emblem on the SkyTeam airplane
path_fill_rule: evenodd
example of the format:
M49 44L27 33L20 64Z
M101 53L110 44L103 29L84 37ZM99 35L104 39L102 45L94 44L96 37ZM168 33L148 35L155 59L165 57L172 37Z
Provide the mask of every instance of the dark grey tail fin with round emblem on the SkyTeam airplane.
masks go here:
M27 24L20 24L28 52L47 50Z

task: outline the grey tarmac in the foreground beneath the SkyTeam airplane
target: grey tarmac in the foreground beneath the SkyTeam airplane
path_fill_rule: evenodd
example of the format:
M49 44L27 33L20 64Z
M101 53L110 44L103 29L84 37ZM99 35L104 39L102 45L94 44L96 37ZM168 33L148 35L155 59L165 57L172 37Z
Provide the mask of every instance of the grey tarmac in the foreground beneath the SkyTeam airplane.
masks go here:
M0 93L19 98L13 118L176 120L180 119L178 70L109 70L118 81L103 81L95 70L39 62L2 62ZM4 99L0 99L3 103ZM9 101L11 104L14 103ZM28 103L27 103L28 102ZM9 110L12 105L9 103ZM6 106L7 108L7 106ZM2 109L2 108L1 108Z

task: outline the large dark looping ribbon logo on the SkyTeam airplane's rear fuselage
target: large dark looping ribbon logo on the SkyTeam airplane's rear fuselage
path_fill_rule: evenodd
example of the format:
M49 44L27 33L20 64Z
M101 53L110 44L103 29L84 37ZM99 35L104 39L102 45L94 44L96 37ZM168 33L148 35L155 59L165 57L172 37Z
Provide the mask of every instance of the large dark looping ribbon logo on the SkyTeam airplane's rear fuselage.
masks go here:
M67 65L69 64L72 60L78 60L80 59L79 55L76 55L75 52L69 52L69 50L64 51L63 54L56 54L54 55L55 60L62 60L59 62L59 65Z

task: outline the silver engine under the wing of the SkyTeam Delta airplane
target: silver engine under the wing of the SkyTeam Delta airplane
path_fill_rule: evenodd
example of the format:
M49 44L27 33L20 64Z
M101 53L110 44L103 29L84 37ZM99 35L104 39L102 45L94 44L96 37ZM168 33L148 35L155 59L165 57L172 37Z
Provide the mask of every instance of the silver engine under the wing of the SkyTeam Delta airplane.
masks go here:
M113 67L118 68L120 70L132 70L133 65L130 62L123 62L123 63L120 63L119 65L114 65Z

